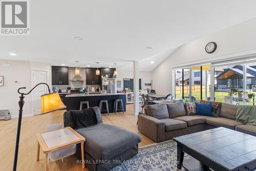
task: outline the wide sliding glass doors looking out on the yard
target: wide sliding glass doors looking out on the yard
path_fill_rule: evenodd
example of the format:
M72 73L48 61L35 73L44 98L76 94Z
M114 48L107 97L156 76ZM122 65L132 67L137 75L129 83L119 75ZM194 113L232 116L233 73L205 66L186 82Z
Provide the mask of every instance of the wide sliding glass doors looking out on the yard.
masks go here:
M255 104L256 58L186 67L174 72L176 98Z

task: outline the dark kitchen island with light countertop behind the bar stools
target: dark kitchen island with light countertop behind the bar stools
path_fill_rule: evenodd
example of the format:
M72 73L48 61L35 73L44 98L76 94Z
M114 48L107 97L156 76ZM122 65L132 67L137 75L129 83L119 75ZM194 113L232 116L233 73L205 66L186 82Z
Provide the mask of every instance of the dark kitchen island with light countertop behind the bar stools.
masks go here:
M63 98L62 101L67 106L67 111L70 111L70 110L79 110L81 101L89 101L90 107L94 107L94 106L99 106L100 100L108 100L109 113L112 113L114 111L115 99L122 99L123 111L125 112L126 111L126 94L124 93L68 94L65 96L65 98ZM102 104L102 111L105 111L105 103ZM106 112L101 112L101 113L106 113Z

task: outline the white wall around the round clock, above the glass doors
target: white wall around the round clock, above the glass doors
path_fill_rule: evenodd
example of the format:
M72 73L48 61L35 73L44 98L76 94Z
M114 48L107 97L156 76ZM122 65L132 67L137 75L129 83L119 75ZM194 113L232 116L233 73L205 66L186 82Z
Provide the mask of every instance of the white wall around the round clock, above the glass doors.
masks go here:
M215 41L217 50L208 54L205 45ZM173 90L173 68L195 65L221 59L232 59L241 55L256 53L256 18L247 22L191 41L177 48L157 68L152 71L153 89L158 94L168 94Z

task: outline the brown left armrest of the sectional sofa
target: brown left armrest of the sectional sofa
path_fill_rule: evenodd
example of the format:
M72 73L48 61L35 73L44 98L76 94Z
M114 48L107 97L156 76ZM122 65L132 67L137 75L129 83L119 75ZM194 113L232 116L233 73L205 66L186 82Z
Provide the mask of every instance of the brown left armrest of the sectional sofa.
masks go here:
M164 122L152 116L138 115L138 130L155 142L162 142L165 139Z

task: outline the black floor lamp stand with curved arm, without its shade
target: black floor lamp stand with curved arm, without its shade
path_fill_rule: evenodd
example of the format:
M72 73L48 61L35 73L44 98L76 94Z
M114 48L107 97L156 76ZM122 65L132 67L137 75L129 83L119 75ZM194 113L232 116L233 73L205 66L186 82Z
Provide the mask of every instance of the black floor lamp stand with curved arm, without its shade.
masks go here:
M18 101L18 105L19 105L19 114L18 114L18 127L17 127L17 136L16 136L16 145L15 145L15 154L14 154L14 162L13 162L13 171L16 171L16 167L17 167L17 160L18 160L18 145L19 145L19 135L20 135L20 127L22 125L22 112L23 112L23 106L24 106L24 95L28 95L30 94L38 85L40 84L46 84L46 86L48 87L48 91L50 92L50 88L48 86L47 83L41 82L39 84L37 84L33 89L31 89L28 93L20 93L19 90L20 89L26 89L26 87L22 87L18 89L18 93L21 94L21 96L19 97L19 101Z

